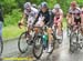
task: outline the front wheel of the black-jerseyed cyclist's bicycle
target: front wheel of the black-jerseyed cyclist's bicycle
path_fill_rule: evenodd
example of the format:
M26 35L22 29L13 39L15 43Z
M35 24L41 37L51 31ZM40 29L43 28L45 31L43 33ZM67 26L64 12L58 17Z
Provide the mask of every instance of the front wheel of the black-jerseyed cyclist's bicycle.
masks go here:
M33 55L37 59L40 59L43 53L43 42L42 42L42 37L37 35L34 38L34 43L33 43Z

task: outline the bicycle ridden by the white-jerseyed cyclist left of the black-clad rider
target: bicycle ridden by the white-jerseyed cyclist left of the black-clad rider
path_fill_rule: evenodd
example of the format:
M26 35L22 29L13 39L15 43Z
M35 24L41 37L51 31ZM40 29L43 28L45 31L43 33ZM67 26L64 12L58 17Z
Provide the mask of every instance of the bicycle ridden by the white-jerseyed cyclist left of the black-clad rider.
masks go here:
M30 34L33 31L33 29L30 29L27 26L27 23L22 26L25 28L25 31L22 32L21 35L19 37L18 48L21 53L25 53L28 51L29 45L32 45L33 43L33 37L32 34Z

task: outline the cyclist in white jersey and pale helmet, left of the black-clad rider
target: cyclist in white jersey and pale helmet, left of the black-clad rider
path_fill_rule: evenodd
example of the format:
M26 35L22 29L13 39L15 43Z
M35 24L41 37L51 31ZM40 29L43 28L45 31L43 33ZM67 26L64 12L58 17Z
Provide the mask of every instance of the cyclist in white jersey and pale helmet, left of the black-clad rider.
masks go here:
M21 26L24 23L24 20L27 20L28 28L32 27L37 14L38 14L38 10L33 8L30 2L25 2L24 12L21 21L19 22L19 27L21 28Z

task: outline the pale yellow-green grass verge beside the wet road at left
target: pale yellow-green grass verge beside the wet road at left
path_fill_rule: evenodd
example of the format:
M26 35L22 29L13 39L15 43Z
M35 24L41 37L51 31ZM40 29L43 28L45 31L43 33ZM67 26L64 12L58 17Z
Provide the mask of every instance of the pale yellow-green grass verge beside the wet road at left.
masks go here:
M19 37L24 29L19 29L18 26L3 27L3 40L9 40Z

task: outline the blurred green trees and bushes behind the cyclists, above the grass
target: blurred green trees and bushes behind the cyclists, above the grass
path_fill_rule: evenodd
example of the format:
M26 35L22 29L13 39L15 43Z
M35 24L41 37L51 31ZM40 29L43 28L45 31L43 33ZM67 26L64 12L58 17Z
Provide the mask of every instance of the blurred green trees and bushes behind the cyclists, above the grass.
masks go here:
M60 3L61 8L64 12L64 16L66 16L70 3L73 0L0 0L0 6L3 10L3 17L4 17L4 24L3 26L6 27L3 32L7 32L7 27L10 28L10 26L14 27L18 24L18 21L22 17L23 4L24 4L24 2L28 2L28 1L31 3L35 3L38 6L42 1L46 1L50 9L52 9L55 3ZM75 1L77 1L79 7L83 7L83 0L75 0ZM11 28L12 30L14 30L13 27ZM3 33L3 35L6 37L7 34Z

